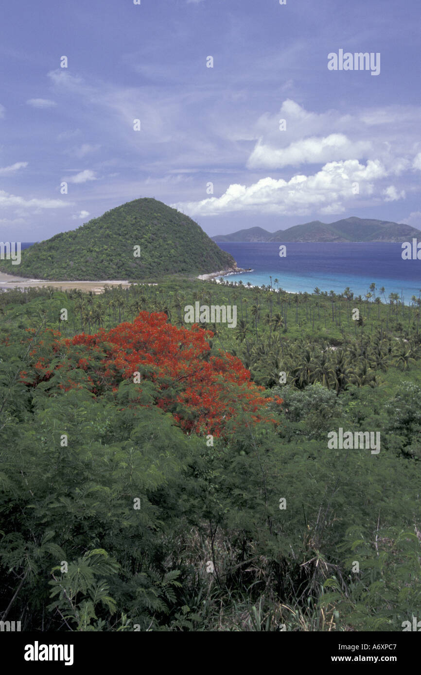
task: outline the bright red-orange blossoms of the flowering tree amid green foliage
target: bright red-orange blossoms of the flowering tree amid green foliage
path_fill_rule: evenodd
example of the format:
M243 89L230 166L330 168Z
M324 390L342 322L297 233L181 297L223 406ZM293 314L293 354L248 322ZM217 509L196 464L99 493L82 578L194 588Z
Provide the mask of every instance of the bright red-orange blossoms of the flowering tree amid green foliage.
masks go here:
M122 323L95 335L76 335L72 340L52 343L52 352L66 352L69 375L72 368L88 374L89 387L96 396L116 391L123 379L155 384L155 403L172 412L184 431L205 431L219 436L224 423L243 411L250 421L269 421L264 387L250 381L250 373L239 358L220 352L210 355L206 338L211 331L177 328L167 323L164 313L141 312L133 323ZM51 354L53 356L53 354ZM49 379L49 359L36 357L37 379ZM62 367L62 364L61 364ZM57 366L55 366L57 369ZM61 373L62 374L62 373ZM67 380L65 389L80 386ZM139 398L142 383L139 387ZM276 398L276 402L282 400ZM139 403L138 403L139 404ZM266 408L266 410L265 410Z

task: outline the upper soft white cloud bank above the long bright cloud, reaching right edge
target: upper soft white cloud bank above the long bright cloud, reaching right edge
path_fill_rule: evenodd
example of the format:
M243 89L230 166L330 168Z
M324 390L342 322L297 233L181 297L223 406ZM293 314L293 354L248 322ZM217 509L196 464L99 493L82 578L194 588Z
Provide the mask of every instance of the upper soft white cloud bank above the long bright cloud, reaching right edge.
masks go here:
M335 109L314 113L287 99L278 113L264 113L257 119L247 167L282 169L341 159L379 159L389 173L400 175L413 161L421 168L421 153L414 160L413 150L419 117L419 108L401 105L345 114Z

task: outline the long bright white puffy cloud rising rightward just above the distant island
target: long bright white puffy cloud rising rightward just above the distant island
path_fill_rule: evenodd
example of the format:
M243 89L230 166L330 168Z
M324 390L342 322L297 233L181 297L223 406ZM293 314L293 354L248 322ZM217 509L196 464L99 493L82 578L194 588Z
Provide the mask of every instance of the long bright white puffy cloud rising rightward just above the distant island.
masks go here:
M328 162L313 175L293 175L288 181L262 178L249 187L232 184L220 197L180 202L174 207L189 215L246 210L305 215L313 209L321 213L339 213L344 210L344 200L355 199L355 184L358 184L358 194L370 195L374 190L372 181L385 175L385 167L380 161L368 160L366 165L357 159Z

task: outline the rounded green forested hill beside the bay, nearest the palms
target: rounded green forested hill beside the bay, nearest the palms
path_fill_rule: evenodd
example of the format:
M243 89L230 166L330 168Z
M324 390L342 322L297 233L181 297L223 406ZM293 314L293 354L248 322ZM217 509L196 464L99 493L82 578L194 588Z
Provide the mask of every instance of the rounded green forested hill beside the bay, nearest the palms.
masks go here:
M232 256L187 215L142 198L34 244L22 251L19 267L4 260L0 271L58 281L95 281L196 275L234 266Z

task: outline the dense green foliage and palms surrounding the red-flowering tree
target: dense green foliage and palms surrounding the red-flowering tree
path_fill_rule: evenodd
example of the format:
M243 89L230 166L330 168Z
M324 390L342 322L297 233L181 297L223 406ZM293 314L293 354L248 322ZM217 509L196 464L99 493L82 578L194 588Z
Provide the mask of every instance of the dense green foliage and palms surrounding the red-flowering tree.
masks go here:
M316 291L0 295L1 618L401 630L419 614L418 302ZM195 298L238 303L237 328L186 325ZM339 427L380 431L379 454L329 450Z

